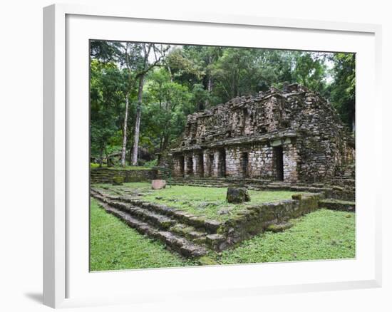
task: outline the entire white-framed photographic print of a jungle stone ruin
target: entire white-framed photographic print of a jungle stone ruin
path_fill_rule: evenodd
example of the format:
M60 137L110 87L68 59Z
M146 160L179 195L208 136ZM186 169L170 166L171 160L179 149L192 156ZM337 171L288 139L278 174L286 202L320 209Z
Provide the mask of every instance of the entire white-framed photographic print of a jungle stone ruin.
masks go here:
M43 31L45 304L381 285L379 26L53 5Z

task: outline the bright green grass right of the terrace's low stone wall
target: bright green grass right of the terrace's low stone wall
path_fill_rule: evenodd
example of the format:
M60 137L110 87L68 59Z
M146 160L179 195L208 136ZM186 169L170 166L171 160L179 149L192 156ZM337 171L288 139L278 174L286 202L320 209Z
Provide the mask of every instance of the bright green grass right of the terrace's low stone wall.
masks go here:
M349 259L355 257L355 214L319 209L292 220L282 233L265 232L236 249L213 254L220 264Z

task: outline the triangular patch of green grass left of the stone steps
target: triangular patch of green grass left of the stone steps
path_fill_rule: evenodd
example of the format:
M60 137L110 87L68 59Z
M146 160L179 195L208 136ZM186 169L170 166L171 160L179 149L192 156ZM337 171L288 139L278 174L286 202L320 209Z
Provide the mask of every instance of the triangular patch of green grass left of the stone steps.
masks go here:
M196 265L167 251L159 241L148 239L131 229L105 212L93 198L90 227L91 271Z

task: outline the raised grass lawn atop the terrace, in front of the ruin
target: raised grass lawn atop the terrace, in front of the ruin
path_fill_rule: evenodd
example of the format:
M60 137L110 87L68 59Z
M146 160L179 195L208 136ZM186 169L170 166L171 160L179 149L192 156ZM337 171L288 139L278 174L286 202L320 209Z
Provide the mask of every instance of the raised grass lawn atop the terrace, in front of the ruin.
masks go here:
M226 187L192 187L185 185L173 185L165 189L151 189L150 183L125 183L123 186L115 187L110 184L100 184L109 187L116 194L118 191L132 189L138 193L144 193L144 200L158 202L175 207L179 210L190 212L195 216L205 217L205 219L215 219L225 221L233 217L237 212L244 210L247 206L260 204L263 202L276 202L281 199L291 199L292 194L298 192L289 191L249 191L251 202L243 204L229 204L226 202ZM226 214L220 214L222 210Z

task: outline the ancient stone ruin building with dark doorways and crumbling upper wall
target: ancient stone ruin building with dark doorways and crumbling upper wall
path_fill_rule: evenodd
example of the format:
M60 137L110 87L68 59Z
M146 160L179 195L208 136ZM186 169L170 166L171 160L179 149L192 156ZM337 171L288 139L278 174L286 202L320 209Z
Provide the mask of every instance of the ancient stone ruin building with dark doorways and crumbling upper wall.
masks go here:
M175 177L324 182L354 163L354 137L318 93L297 85L189 115Z

